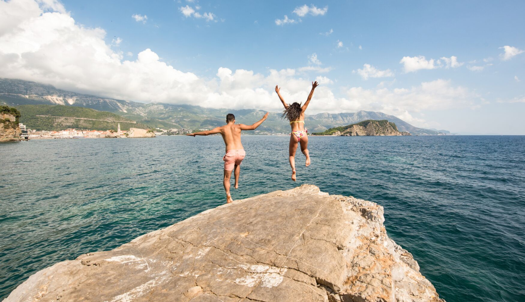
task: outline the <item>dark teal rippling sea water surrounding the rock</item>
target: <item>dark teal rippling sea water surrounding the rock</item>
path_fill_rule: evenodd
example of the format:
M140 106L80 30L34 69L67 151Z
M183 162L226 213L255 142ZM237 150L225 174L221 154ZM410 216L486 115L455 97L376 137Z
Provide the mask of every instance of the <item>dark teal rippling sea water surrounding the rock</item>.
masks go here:
M447 301L525 301L525 136L243 136L234 199L304 183L384 206L391 238ZM0 298L39 269L224 202L218 136L0 145Z

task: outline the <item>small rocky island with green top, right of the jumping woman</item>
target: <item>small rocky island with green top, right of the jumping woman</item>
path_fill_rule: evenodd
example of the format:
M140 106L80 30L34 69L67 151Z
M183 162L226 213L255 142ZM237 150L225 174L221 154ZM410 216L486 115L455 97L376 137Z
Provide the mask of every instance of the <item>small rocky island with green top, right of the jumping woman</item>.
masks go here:
M333 127L324 132L312 133L312 135L330 136L398 136L411 135L408 132L400 132L395 123L387 120L366 120L356 124Z

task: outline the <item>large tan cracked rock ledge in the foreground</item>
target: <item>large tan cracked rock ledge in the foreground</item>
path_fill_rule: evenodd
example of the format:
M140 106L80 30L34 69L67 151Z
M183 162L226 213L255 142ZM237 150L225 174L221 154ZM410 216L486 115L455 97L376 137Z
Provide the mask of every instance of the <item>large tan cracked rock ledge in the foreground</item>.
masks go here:
M444 301L383 208L303 185L43 269L4 301Z

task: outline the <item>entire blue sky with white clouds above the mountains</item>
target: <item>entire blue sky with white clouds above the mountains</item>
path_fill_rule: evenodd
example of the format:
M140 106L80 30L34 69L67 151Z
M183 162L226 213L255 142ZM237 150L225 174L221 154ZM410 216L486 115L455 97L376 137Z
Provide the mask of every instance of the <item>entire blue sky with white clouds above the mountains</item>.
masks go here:
M0 77L144 103L525 135L525 2L0 0Z

